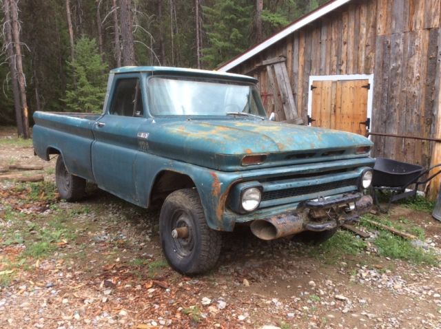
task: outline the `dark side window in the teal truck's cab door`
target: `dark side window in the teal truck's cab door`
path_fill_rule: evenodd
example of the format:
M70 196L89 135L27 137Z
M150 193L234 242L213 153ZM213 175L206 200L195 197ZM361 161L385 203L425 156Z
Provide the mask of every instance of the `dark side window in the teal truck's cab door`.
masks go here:
M114 116L143 116L143 108L139 78L118 79L109 114Z

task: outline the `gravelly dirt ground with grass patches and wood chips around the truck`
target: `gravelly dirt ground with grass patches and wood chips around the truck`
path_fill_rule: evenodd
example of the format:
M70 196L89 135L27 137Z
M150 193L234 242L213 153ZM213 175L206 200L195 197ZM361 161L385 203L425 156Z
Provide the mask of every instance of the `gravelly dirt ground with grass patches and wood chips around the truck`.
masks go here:
M45 183L0 180L0 328L441 328L438 264L336 244L349 233L318 247L243 227L225 233L214 270L185 277L161 254L157 211L93 186L61 201L55 158L15 140L0 129L0 165L41 164ZM438 252L441 222L427 211L398 205L387 219L422 228Z

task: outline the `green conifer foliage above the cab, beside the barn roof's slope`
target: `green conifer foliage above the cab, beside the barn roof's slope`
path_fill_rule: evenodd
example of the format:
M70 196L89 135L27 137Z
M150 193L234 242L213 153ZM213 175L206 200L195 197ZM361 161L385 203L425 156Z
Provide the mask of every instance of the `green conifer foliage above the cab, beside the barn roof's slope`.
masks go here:
M202 61L216 67L249 47L252 29L252 3L245 0L216 1L212 8L203 6L209 47Z

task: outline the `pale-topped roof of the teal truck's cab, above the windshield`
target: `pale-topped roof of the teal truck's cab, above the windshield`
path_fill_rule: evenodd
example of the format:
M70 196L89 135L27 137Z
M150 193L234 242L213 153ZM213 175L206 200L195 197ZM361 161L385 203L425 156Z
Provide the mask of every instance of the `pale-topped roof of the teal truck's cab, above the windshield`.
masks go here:
M249 81L256 83L256 79L252 76L244 76L242 74L234 74L219 71L198 70L185 67L166 67L166 66L123 66L110 71L112 74L133 73L133 72L153 72L164 74L184 74L186 76L207 76L212 78L231 78L233 80Z

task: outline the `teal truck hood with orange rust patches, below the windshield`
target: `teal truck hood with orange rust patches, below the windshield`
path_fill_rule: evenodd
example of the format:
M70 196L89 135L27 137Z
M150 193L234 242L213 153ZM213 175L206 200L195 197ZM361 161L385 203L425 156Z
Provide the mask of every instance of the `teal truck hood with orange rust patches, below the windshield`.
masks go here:
M222 171L355 158L372 143L344 131L269 120L158 118L149 127L148 151ZM240 165L249 154L267 155L262 165Z

